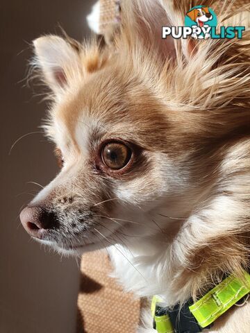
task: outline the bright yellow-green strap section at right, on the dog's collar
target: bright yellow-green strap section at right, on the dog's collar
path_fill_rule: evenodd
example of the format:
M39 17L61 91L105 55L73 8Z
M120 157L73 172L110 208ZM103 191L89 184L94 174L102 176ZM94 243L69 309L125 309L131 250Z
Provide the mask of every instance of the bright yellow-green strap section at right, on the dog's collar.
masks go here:
M201 327L213 323L219 316L235 305L250 292L250 275L244 272L244 279L230 275L203 298L189 307Z

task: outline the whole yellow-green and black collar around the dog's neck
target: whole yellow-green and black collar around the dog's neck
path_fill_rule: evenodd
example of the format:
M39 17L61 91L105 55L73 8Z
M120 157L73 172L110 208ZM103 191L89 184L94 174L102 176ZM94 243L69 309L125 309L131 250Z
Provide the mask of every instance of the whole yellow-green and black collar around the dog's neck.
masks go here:
M219 316L250 293L250 275L244 278L228 276L197 302L186 302L183 307L164 307L159 296L153 296L151 313L158 333L197 333L210 328Z

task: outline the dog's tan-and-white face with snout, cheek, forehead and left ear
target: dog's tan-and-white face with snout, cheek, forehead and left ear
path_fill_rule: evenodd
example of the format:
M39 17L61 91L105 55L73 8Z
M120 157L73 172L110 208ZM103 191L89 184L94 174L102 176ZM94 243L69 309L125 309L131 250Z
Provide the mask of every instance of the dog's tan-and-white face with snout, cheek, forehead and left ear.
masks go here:
M56 92L44 127L61 170L22 213L26 230L56 248L82 251L159 232L168 214L185 214L187 128L166 112L141 69L115 57L92 67L60 37L41 37L35 48Z

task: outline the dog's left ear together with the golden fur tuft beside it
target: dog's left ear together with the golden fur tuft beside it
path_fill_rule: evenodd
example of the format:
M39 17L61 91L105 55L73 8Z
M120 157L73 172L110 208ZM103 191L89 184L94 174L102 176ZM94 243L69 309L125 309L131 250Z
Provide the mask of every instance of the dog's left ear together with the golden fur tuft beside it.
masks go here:
M42 80L60 99L67 89L75 89L88 75L101 69L108 60L106 49L97 41L80 44L65 35L39 37L33 41L35 68L41 72Z

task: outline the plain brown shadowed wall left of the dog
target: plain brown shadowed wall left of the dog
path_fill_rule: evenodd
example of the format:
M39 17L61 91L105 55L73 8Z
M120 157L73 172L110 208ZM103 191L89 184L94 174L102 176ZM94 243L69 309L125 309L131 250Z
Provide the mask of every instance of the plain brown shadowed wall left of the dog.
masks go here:
M19 212L57 172L41 131L46 104L39 87L26 87L30 43L60 31L81 40L88 32L86 0L0 0L1 212L0 333L72 333L76 325L76 259L49 253L30 241ZM35 95L35 96L34 96Z

